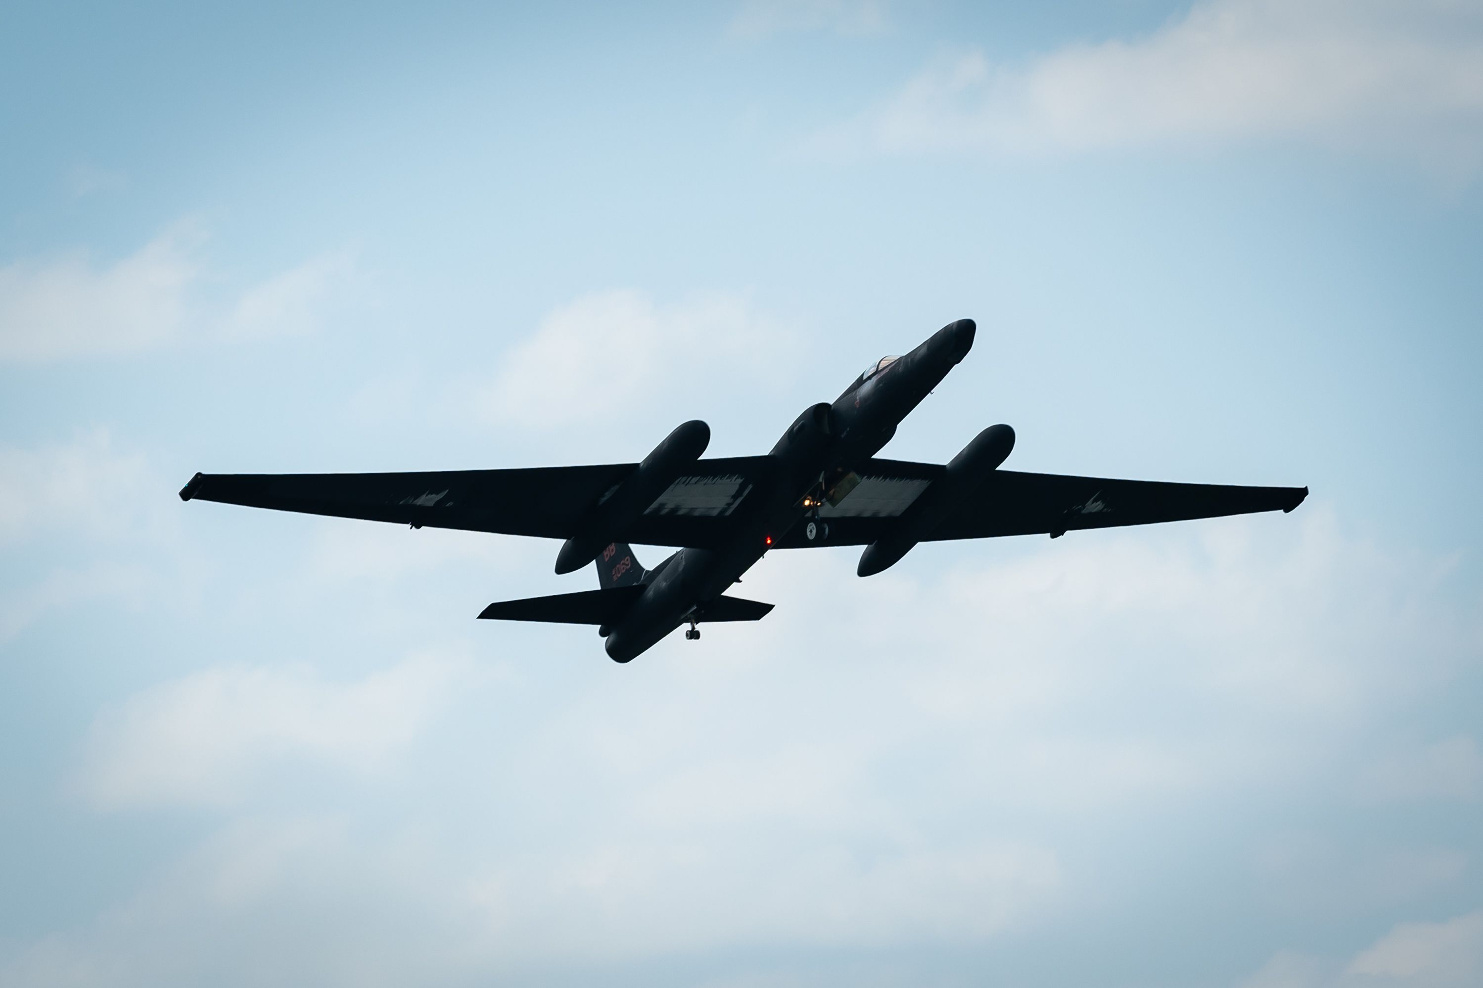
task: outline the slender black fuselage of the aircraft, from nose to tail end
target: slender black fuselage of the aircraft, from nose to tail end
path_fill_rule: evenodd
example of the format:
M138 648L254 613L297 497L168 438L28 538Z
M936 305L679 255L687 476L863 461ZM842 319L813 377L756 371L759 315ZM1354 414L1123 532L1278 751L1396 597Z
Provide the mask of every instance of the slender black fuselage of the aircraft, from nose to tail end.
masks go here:
M768 453L770 477L747 495L736 533L719 548L684 548L657 566L644 594L610 630L608 656L627 662L654 646L724 594L773 542L807 523L967 356L973 336L973 320L951 323L911 353L860 375L832 404L805 409Z

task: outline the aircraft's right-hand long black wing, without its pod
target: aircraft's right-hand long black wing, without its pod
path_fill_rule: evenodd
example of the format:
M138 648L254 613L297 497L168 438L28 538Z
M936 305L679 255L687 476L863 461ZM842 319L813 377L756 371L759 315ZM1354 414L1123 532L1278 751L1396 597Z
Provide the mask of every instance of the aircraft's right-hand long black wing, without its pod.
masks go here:
M943 467L897 459L872 459L860 484L820 517L829 524L823 545L866 545L879 538ZM927 536L928 541L985 539L1001 535L1060 535L1189 518L1215 518L1256 511L1292 511L1307 487L1238 487L1179 484L1154 480L1108 480L995 471L974 495ZM802 526L779 539L777 548L814 545Z

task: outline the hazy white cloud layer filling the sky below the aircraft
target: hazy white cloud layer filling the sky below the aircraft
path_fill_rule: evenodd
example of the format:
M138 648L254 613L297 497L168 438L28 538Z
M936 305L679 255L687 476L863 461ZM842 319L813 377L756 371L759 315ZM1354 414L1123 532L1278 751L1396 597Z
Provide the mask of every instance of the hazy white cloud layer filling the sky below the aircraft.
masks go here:
M642 667L604 665L589 630L540 628L541 644L503 655L492 678L421 658L340 680L264 665L162 683L93 724L74 782L87 804L292 812L311 770L319 812L225 822L6 973L257 981L282 957L328 982L544 978L752 945L1047 930L1127 895L1077 853L1103 828L1315 787L1363 806L1373 767L1354 739L1428 702L1471 655L1479 616L1439 593L1444 564L1381 551L1308 508L1077 533L946 570L927 558L943 547L922 547L921 567L871 581L850 576L853 553L779 553L746 582L785 601L767 621L707 630L703 656L669 640ZM397 573L426 579L415 560L383 578ZM310 567L298 593L346 578ZM593 665L541 686L578 647ZM521 727L529 708L541 712ZM1450 764L1471 747L1441 739L1418 757L1440 750ZM466 748L483 754L446 754ZM897 764L918 778L903 784ZM408 790L421 772L429 785ZM408 809L374 827L334 809L390 778L417 792ZM1385 798L1456 795L1447 784ZM1068 813L1084 837L1057 825ZM1455 847L1333 834L1252 861L1293 908L1360 915L1455 890L1473 867ZM1252 984L1467 985L1473 924L1401 926L1345 963L1283 954Z

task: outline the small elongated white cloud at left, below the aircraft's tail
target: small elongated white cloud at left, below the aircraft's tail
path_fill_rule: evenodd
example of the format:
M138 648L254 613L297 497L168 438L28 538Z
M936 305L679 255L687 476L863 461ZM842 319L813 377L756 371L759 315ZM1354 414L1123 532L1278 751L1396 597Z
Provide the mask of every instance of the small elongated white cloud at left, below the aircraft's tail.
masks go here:
M196 672L101 715L77 787L102 807L214 806L243 800L271 766L374 773L417 738L458 670L418 658L344 684L303 668Z

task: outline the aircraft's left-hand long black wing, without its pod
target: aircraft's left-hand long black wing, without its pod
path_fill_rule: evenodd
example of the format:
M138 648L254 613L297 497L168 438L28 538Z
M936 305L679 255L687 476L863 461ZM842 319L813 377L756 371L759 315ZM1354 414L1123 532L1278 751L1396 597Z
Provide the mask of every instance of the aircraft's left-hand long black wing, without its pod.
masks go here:
M565 539L638 464L403 474L196 474L182 501L219 501L415 527ZM615 538L644 545L721 542L727 518L770 473L767 456L700 459Z

